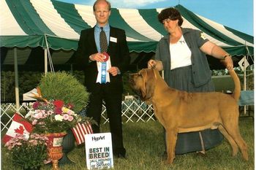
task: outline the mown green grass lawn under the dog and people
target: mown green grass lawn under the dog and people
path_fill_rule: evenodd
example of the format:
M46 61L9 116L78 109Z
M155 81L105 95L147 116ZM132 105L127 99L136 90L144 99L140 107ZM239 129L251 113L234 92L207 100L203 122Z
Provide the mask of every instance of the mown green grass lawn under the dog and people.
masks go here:
M244 161L241 152L236 157L231 156L231 147L226 139L222 144L206 152L206 155L197 155L195 152L185 155L176 155L172 165L166 164L162 158L164 139L162 125L157 121L148 123L124 123L124 146L127 149L127 159L114 158L115 170L165 170L165 169L255 169L254 157L254 121L252 117L240 119L241 136L248 145L249 161ZM108 124L102 125L102 132L108 131ZM61 170L86 169L84 145L75 147L69 152L69 159L75 165L61 166ZM10 161L6 148L1 147L1 169L15 169ZM51 169L44 166L42 169Z

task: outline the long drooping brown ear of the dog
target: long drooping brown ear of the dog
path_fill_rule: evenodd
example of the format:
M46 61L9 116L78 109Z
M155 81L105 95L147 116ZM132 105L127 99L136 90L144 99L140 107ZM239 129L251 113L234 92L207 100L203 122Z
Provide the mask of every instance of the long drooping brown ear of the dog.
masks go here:
M141 75L143 77L143 85L140 89L141 98L143 101L147 101L154 95L154 70L153 69L143 69L141 70Z

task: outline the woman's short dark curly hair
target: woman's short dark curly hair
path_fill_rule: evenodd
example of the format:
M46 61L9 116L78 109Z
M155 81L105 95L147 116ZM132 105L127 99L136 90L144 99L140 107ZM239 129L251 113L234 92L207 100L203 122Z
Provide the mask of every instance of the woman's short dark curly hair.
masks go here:
M178 9L174 7L162 9L162 11L158 15L158 20L160 23L163 20L170 19L170 20L178 20L178 26L181 26L183 23L183 19L181 17L181 13L178 12Z

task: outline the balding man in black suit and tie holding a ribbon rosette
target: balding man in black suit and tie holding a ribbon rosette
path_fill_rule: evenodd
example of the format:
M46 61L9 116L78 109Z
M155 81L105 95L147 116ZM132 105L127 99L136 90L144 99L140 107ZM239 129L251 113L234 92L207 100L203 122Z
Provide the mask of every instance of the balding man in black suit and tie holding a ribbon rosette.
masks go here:
M113 155L118 158L125 158L126 150L124 149L121 125L121 95L123 93L121 76L127 70L130 60L126 35L124 30L113 28L108 23L110 17L110 3L108 1L95 1L94 15L97 24L94 28L81 31L78 50L75 54L85 71L85 85L90 93L87 116L93 117L97 121L98 125L92 125L92 128L94 133L99 133L102 101L105 101L110 121ZM106 74L102 71L104 67L102 64L106 55L102 53L104 50L102 51L99 40L102 30L108 41L106 52L110 56L110 60L106 62ZM101 81L102 77L105 77L104 82Z

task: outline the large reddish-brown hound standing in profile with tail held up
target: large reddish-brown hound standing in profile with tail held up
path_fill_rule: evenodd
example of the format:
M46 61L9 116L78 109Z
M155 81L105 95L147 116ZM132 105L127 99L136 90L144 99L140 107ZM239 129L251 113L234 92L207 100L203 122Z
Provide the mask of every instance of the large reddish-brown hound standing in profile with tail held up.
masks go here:
M157 69L142 69L130 74L129 82L140 98L152 104L154 114L166 130L167 163L173 163L178 133L219 128L230 143L233 156L241 150L248 161L246 143L238 128L238 98L241 85L234 70L230 76L235 83L233 95L208 92L187 93L168 87Z

